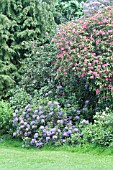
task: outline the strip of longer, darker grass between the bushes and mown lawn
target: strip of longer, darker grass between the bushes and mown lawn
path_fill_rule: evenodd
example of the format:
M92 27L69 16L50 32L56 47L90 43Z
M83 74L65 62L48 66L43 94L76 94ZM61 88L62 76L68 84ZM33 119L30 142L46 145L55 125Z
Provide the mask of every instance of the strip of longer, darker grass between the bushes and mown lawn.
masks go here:
M22 148L22 141L18 139L0 139L0 148L9 148L13 150L29 150L32 151L64 151L64 152L77 152L77 153L93 153L96 155L113 155L113 148L112 147L102 147L96 146L94 144L84 144L84 145L77 145L77 146L69 146L69 145L62 145L62 146L49 146L45 145L43 148Z

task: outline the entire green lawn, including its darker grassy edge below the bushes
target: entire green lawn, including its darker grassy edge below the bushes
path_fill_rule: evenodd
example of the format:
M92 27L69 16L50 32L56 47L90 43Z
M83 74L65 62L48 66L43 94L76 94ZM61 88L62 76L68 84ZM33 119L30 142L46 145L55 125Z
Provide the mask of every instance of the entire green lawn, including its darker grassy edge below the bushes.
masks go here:
M91 150L91 149L90 149ZM93 149L22 149L0 143L0 170L113 170L113 154Z

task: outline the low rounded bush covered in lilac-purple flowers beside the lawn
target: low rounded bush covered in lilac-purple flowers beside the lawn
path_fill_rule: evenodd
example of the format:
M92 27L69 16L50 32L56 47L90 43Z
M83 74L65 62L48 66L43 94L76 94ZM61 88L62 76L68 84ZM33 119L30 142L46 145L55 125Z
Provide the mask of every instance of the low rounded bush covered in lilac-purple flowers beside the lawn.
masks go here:
M68 114L67 114L68 113ZM13 136L23 139L23 147L41 147L44 144L61 145L77 143L81 134L78 128L89 122L80 117L80 110L71 105L62 109L60 103L49 98L39 100L37 107L27 105L24 109L15 110L13 114Z

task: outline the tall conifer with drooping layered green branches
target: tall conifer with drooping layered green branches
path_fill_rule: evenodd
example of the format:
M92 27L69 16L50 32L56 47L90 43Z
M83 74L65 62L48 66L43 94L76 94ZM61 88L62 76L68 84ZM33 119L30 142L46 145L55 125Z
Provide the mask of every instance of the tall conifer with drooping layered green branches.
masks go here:
M18 80L20 59L26 57L25 44L36 40L37 44L48 41L46 33L55 27L53 8L40 0L0 1L0 95ZM2 92L2 93L1 93Z

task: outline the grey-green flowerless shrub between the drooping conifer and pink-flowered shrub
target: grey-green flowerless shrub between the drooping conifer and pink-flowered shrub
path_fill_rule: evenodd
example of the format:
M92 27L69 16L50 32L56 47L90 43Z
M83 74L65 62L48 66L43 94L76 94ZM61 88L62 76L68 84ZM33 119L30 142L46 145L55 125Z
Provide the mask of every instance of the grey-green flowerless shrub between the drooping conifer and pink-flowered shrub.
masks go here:
M31 51L29 56L22 61L20 72L22 74L21 82L19 83L32 96L36 95L43 87L47 87L53 74L53 61L56 58L58 49L54 43L45 44L37 47L37 44L27 48Z

